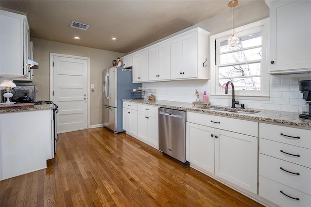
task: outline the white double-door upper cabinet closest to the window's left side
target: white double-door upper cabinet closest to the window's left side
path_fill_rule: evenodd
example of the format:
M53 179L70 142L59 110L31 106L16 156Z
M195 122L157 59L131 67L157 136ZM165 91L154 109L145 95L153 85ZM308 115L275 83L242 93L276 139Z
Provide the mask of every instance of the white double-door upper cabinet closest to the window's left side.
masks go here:
M172 38L171 79L209 79L209 32L195 28Z

